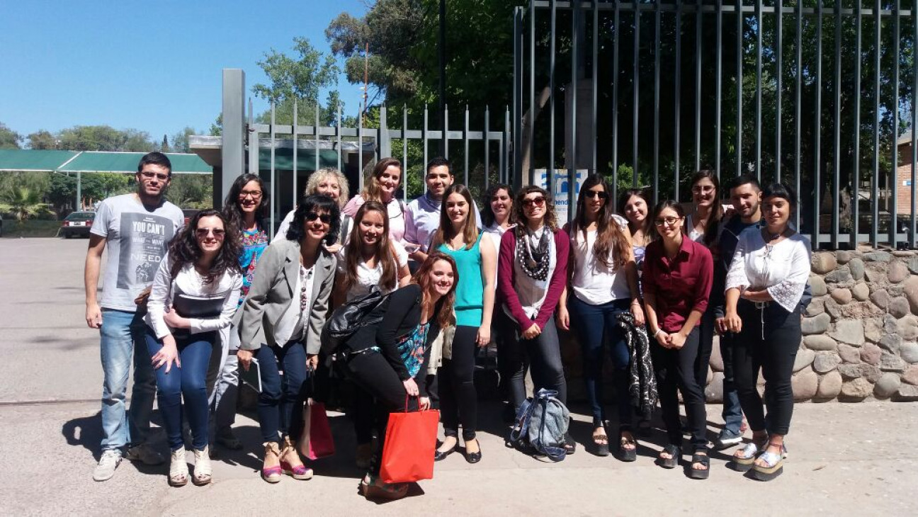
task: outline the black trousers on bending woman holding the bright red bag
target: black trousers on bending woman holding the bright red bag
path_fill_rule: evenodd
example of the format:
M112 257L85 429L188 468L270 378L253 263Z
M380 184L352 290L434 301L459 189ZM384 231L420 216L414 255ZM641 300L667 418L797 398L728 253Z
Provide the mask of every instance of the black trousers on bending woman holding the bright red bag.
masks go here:
M417 411L418 398L408 397L405 391L405 385L398 378L396 371L392 369L386 358L382 354L373 351L366 351L359 354L349 354L344 361L343 370L345 375L350 377L360 388L364 388L366 393L375 399L374 415L376 424L376 435L379 438L379 446L374 449L373 456L370 460L370 473L374 476L379 474L383 450L386 445L386 426L389 422L389 413L393 411ZM423 382L420 372L418 377ZM406 407L407 399L407 407Z

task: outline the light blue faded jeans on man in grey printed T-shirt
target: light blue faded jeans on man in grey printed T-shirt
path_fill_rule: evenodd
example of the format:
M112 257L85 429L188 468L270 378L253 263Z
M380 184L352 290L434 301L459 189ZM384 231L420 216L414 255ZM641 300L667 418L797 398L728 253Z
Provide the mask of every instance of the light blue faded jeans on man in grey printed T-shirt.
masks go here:
M150 433L150 413L156 393L156 377L143 341L143 316L126 310L102 309L99 330L102 357L102 450L118 450L141 444ZM133 356L133 358L132 358ZM134 388L130 410L125 399L131 361Z

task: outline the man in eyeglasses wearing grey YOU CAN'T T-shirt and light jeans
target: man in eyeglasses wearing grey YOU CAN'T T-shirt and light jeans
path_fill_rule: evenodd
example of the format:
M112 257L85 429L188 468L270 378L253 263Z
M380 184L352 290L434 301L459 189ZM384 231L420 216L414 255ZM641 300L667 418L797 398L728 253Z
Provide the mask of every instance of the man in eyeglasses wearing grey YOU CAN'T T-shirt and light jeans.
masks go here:
M143 341L143 316L153 273L185 216L180 208L163 199L172 181L172 163L165 154L145 154L134 179L137 192L108 197L99 204L86 253L86 324L99 329L104 375L102 456L93 472L96 481L115 474L125 447L129 460L147 465L164 461L146 444L156 377ZM96 291L106 247L99 300ZM125 395L131 361L134 388L127 411Z

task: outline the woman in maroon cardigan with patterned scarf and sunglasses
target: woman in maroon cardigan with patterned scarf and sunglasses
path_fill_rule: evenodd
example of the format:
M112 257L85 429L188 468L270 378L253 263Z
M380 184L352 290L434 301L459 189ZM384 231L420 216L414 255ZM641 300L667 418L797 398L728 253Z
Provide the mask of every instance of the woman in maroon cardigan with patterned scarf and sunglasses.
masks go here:
M526 399L523 377L532 366L535 390L554 389L566 405L567 384L553 316L565 288L570 238L558 228L545 189L524 187L513 209L518 224L501 238L498 259L498 301L513 323L498 331L509 349L510 402L520 409ZM567 454L573 454L575 448L574 440L566 435Z

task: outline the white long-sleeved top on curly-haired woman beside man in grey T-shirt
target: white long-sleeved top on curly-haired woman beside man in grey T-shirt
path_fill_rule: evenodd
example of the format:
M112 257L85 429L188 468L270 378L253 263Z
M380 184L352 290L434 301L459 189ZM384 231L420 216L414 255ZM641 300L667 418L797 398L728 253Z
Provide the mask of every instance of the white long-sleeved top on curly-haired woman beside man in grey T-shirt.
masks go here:
M221 298L223 308L218 318L189 319L191 333L219 331L229 327L232 317L236 313L242 288L242 275L236 271L227 271L211 284L204 283L204 276L197 273L194 264L185 264L172 279L170 275L172 260L167 253L160 263L153 285L150 299L147 301L147 315L144 320L156 333L159 339L172 333L173 329L166 324L165 309L172 306L172 300L179 293L193 297Z

